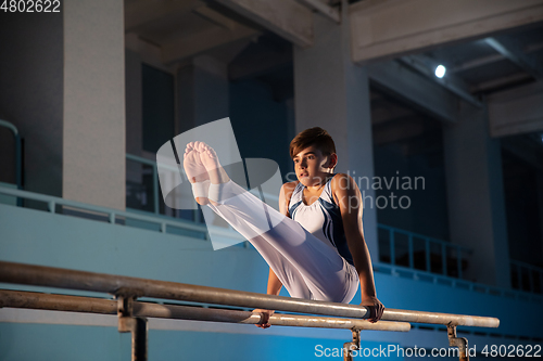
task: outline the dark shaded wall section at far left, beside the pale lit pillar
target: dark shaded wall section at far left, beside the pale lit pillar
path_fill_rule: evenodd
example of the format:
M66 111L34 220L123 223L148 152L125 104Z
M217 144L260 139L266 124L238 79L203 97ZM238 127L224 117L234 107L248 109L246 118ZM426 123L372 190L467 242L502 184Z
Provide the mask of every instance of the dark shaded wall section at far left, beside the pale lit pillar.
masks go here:
M25 140L24 189L54 196L62 195L62 12L1 14L0 119ZM2 130L0 169L15 180L14 158L5 159L14 157L13 146L11 132Z

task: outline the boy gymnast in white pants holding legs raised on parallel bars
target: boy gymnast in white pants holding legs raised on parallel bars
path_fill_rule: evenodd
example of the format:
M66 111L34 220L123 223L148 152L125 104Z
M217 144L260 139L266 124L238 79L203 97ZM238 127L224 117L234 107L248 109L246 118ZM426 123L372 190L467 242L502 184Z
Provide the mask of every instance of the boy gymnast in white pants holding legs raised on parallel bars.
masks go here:
M281 186L280 214L233 183L203 142L187 144L184 167L197 202L245 236L268 263L268 295L278 295L285 285L291 297L349 304L359 284L361 305L377 322L384 306L376 296L356 182L333 173L336 146L321 128L299 133L290 155L298 181ZM264 315L258 327L270 326L273 310L254 312Z

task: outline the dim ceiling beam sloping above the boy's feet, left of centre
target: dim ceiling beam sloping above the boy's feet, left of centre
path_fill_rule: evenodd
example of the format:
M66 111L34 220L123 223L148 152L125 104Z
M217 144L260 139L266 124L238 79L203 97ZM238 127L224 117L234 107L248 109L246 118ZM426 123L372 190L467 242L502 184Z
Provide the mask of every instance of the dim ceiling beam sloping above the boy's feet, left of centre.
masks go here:
M256 37L260 34L260 31L241 24L236 24L231 30L213 27L163 44L162 61L167 65L173 64L238 40Z

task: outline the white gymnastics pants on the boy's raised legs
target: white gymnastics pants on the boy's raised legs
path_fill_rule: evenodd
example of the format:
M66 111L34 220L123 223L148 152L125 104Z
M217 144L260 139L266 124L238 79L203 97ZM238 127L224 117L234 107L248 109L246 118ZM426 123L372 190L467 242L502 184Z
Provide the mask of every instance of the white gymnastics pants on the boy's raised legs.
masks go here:
M251 242L291 297L344 304L353 299L359 284L356 269L332 245L232 181L212 184L210 198L217 206L209 207Z

